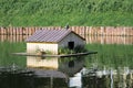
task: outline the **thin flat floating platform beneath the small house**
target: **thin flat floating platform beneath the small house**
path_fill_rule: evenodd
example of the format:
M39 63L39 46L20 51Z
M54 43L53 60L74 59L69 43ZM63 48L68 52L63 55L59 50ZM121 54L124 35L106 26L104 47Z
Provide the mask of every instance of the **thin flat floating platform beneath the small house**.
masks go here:
M37 54L30 54L30 53L12 53L14 55L21 55L21 56L37 56L37 57L73 57L73 56L84 56L90 54L98 54L98 52L86 52L86 53L76 53L76 54L60 54L60 55L37 55Z

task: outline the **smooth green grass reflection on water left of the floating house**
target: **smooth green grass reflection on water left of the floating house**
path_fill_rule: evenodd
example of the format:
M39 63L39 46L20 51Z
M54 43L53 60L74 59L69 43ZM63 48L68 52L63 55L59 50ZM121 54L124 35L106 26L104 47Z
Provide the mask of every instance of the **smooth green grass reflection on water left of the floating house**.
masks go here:
M12 53L24 52L24 43L0 42L0 66L25 66L25 57L12 55Z

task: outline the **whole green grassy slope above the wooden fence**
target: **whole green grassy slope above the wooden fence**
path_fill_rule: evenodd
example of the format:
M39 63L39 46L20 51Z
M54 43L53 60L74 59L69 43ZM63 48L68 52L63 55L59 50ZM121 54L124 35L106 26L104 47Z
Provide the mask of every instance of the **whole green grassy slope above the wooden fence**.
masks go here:
M1 26L133 25L133 0L0 0Z

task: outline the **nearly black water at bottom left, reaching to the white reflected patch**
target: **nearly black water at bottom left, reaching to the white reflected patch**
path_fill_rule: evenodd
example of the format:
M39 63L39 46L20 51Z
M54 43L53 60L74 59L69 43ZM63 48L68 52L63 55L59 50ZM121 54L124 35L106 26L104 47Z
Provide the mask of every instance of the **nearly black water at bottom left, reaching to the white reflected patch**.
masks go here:
M43 70L44 72L44 70ZM60 85L59 85L60 82ZM34 69L0 68L0 88L63 88L63 78L38 77Z

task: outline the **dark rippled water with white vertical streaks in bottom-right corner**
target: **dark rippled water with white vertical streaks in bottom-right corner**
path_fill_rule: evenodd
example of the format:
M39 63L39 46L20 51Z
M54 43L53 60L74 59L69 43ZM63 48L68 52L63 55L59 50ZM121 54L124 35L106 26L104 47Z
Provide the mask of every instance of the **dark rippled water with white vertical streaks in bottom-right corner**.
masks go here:
M93 73L86 69L84 73L82 82L85 88L133 88L133 72L127 67Z

